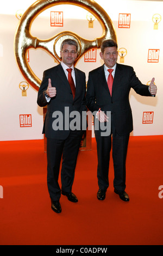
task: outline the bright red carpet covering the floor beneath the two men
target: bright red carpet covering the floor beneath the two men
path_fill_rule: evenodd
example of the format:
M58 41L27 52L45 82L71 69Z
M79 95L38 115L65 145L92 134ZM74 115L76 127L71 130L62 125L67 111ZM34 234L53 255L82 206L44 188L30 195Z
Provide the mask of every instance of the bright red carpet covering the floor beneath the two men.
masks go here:
M0 245L162 245L163 136L130 137L127 188L130 202L110 187L104 201L96 194L97 155L80 151L73 192L79 202L61 196L61 214L51 210L46 185L43 141L0 142L3 198L0 198ZM163 191L162 191L163 196Z

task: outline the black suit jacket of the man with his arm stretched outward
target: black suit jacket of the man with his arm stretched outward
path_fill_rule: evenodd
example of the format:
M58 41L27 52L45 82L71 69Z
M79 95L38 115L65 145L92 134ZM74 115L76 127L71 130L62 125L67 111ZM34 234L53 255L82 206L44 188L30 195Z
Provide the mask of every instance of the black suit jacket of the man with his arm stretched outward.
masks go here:
M129 92L133 88L137 94L152 96L148 86L142 84L136 77L131 66L116 65L114 82L112 85L112 96L110 96L106 82L104 65L89 73L87 82L86 105L91 112L111 111L111 122L114 122L119 135L125 135L133 131L133 117L129 103ZM95 131L97 135L101 130Z

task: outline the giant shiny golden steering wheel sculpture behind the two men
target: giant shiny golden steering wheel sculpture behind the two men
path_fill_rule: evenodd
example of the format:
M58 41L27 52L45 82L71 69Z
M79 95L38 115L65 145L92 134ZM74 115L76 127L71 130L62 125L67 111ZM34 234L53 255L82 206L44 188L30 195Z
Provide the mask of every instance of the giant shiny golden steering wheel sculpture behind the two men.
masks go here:
M30 27L34 19L45 9L59 4L77 5L88 10L102 24L102 36L100 38L96 38L95 40L86 40L70 31L61 32L47 40L39 40L38 38L32 36L30 33ZM114 39L117 41L115 29L110 17L108 14L106 14L102 7L93 0L38 0L34 4L30 5L30 7L22 15L15 33L15 58L22 75L34 89L39 90L41 80L34 74L32 69L30 69L27 62L26 55L29 48L41 47L50 53L55 61L60 63L61 59L58 55L57 47L58 45L60 46L61 42L67 38L72 38L78 42L78 57L74 65L86 51L89 51L91 48L100 48L103 40Z

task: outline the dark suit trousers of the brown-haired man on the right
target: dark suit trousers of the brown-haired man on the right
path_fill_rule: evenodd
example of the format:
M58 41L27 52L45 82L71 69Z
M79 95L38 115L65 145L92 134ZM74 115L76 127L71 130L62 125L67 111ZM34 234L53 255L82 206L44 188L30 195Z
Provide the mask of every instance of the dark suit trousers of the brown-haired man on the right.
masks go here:
M97 136L97 178L101 190L109 187L109 161L112 144L112 159L114 162L114 188L123 191L126 188L126 157L129 141L129 133L123 136L118 135L114 124L111 123L110 136Z

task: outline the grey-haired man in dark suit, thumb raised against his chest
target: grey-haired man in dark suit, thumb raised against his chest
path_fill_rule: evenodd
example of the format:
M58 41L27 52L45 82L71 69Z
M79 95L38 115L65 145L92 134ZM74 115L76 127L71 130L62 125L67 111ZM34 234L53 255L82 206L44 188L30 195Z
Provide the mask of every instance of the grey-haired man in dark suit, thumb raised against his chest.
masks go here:
M47 185L52 210L61 212L61 193L71 202L78 202L72 193L74 171L83 131L73 122L73 114L86 111L85 74L74 68L78 44L66 39L61 44L61 63L43 72L37 104L47 105L43 133L47 138ZM80 121L80 120L78 120ZM82 126L82 124L81 124ZM61 189L58 183L60 162Z

